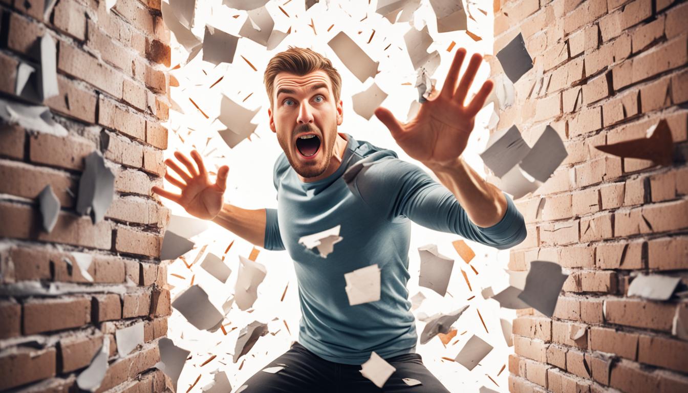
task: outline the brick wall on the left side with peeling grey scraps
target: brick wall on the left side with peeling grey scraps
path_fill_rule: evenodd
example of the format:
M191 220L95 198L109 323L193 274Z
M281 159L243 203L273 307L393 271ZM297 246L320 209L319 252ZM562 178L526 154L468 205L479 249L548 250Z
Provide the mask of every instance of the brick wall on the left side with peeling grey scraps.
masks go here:
M160 392L153 365L171 308L158 256L169 210L150 189L164 174L169 30L160 0L119 0L109 12L105 0L57 0L44 15L45 3L0 0L0 98L22 101L17 65L40 65L35 45L50 34L59 94L43 105L67 129L63 137L0 123L0 391L75 392L107 338L98 392ZM74 205L95 150L116 180L105 220L93 224ZM51 233L41 231L36 202L47 184L61 202ZM93 282L74 251L92 255ZM62 293L47 294L50 284ZM116 331L136 323L144 343L120 357Z

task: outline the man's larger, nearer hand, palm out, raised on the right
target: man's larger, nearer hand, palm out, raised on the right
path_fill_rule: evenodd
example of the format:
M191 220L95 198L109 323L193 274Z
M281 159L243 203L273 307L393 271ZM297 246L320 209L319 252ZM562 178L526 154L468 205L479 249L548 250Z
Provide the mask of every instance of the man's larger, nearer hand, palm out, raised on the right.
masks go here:
M433 87L428 100L420 105L416 118L409 123L400 123L389 109L375 109L375 116L389 128L398 145L411 158L427 167L443 167L458 160L466 149L475 124L475 115L482 109L492 91L492 81L486 81L471 103L464 106L464 100L482 61L480 54L471 56L457 87L459 70L465 57L464 48L456 51L442 91L438 94Z

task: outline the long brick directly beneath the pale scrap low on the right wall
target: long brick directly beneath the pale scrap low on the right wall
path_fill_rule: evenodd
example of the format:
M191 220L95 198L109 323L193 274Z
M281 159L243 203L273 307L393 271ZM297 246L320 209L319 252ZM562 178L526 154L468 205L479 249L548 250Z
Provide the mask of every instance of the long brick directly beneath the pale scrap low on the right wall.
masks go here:
M636 299L605 300L605 321L618 325L671 331L676 306Z

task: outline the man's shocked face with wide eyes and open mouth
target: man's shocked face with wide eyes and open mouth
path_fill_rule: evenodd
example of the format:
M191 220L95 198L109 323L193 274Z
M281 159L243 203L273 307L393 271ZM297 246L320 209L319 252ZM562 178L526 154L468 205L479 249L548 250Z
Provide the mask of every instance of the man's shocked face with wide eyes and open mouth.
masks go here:
M303 178L321 175L342 123L342 101L334 101L330 77L322 70L304 76L281 72L274 86L270 129L294 171Z

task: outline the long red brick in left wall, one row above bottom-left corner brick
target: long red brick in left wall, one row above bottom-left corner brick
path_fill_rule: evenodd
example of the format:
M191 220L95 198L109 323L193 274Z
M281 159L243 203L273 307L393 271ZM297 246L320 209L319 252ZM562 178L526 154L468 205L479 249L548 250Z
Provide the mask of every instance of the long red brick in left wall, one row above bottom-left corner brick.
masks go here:
M91 301L86 297L28 299L23 304L24 334L78 328L90 321Z

